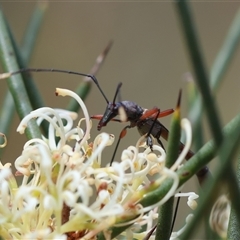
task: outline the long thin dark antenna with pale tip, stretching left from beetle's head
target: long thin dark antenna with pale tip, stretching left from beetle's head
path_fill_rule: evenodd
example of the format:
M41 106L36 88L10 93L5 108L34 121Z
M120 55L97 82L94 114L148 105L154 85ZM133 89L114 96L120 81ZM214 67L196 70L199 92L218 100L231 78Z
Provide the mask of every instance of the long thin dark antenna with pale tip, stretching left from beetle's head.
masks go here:
M80 72L69 71L69 70L53 69L53 68L22 68L22 69L19 69L17 71L14 71L14 72L2 73L2 74L0 74L0 79L9 78L12 75L16 75L16 74L24 73L24 72L58 72L58 73L66 73L66 74L80 75L80 76L83 76L83 77L89 77L96 84L96 86L98 87L99 91L103 95L106 102L109 103L106 95L104 94L103 90L101 89L101 87L98 83L97 78L94 75L91 75L91 74L80 73Z

